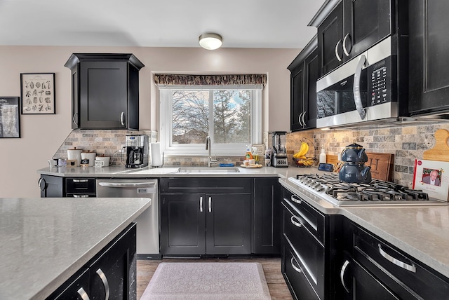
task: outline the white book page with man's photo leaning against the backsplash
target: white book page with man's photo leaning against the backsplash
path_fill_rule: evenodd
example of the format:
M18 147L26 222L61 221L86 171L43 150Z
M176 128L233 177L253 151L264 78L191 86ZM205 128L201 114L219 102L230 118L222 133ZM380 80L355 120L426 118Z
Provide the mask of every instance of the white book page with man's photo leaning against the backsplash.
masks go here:
M429 197L448 201L449 162L415 160L413 189L421 189Z

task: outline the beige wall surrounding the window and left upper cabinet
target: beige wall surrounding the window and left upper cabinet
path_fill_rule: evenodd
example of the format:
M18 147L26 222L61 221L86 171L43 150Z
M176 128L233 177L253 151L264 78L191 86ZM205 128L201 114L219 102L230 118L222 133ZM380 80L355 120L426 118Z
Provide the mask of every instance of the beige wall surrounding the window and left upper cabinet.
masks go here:
M145 64L140 71L140 129L158 130L157 91L152 74L268 74L264 90L264 131L290 128L290 73L286 67L300 50L201 48L105 48L0 46L0 97L20 96L20 73L55 73L55 115L20 116L21 138L0 139L0 197L39 196L36 170L45 168L71 129L72 53L133 53ZM155 128L156 127L156 128Z

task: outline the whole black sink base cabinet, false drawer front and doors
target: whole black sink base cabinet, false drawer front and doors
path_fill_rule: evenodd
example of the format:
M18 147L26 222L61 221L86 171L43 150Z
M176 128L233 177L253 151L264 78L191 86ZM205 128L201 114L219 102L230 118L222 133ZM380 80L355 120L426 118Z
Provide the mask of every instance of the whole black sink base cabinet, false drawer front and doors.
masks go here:
M162 178L161 254L250 254L251 186L250 178Z

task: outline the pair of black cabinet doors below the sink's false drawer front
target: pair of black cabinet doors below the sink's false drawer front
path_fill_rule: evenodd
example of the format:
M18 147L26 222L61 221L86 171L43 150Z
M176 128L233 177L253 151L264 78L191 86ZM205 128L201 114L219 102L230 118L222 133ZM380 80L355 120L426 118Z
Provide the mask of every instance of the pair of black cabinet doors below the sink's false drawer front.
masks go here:
M161 195L161 254L250 254L250 194Z

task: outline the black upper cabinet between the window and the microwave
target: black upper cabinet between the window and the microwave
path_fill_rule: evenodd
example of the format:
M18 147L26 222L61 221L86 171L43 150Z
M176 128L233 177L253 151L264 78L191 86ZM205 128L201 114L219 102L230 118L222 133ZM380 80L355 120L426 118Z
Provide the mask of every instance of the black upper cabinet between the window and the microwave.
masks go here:
M290 130L316 128L316 80L319 76L316 36L288 66L290 70Z

